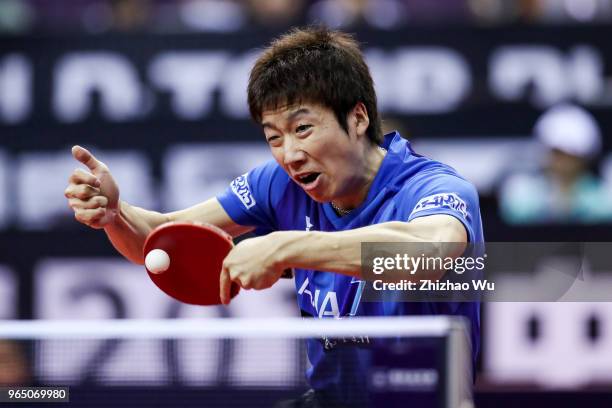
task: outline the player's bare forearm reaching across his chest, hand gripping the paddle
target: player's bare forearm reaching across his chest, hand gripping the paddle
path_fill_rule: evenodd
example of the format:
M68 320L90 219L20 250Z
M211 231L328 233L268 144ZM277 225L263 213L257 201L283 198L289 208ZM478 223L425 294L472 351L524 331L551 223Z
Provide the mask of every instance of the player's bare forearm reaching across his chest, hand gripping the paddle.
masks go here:
M410 222L392 221L347 231L279 231L242 241L221 272L221 299L229 302L231 281L245 289L272 286L286 268L314 269L361 277L362 242L463 243L440 245L440 257L461 255L468 242L465 226L447 214ZM432 246L433 248L433 246ZM446 253L450 251L450 253Z

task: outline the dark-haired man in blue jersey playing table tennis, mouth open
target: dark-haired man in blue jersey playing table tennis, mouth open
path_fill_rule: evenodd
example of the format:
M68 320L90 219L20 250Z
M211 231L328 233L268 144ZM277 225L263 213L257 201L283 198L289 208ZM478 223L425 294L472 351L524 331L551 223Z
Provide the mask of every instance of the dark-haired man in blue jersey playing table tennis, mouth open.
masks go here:
M323 28L291 31L255 63L248 103L273 161L236 178L216 198L160 214L120 201L109 169L75 147L75 158L90 169L75 171L66 190L76 218L104 228L117 250L137 263L143 263L149 232L168 221L207 222L234 237L270 231L240 242L226 257L224 303L232 281L265 289L294 268L303 316L462 315L471 322L475 359L478 303L361 301L362 242L479 243L483 232L469 182L416 154L398 133L383 137L358 44ZM315 391L295 406L359 403L358 357L317 339L308 341L308 357Z

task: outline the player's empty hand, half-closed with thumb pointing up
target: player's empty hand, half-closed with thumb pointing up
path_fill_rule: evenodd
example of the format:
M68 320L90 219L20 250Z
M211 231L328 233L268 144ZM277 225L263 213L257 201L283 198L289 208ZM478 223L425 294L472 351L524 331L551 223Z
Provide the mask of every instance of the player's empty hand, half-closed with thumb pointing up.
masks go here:
M64 195L74 210L74 217L92 228L112 223L119 211L119 188L108 167L81 146L72 148L72 156L89 171L76 169L68 179Z

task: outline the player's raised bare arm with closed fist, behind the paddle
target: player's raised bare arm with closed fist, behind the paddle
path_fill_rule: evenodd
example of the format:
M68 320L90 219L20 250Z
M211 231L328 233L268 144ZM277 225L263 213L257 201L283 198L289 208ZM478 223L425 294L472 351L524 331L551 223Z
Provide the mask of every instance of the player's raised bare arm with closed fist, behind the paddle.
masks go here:
M165 222L205 222L234 237L252 230L233 222L216 198L167 214L120 201L117 183L104 163L80 146L73 147L72 154L89 169L75 170L64 193L75 218L92 228L103 228L113 246L132 262L144 262L142 248L147 236Z

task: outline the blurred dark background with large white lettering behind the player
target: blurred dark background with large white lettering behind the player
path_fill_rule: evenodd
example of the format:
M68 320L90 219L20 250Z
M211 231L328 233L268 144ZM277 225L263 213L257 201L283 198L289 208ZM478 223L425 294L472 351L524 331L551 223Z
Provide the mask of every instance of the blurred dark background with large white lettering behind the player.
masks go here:
M292 282L229 308L169 300L63 191L77 143L159 211L268 160L248 73L308 23L355 33L385 129L477 186L487 241L611 241L612 0L0 0L0 318L297 315ZM29 357L0 343L0 385L82 380ZM111 357L97 381L146 370ZM483 305L476 391L477 406L610 406L612 304Z

